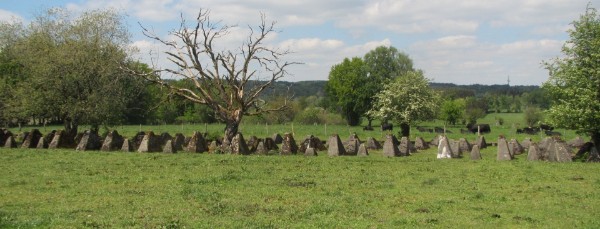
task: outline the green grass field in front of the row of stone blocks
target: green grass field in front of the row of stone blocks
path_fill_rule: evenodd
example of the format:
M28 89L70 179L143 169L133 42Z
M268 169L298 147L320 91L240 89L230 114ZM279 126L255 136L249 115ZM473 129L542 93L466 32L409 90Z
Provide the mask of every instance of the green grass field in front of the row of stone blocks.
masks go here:
M597 164L0 149L0 228L599 228Z

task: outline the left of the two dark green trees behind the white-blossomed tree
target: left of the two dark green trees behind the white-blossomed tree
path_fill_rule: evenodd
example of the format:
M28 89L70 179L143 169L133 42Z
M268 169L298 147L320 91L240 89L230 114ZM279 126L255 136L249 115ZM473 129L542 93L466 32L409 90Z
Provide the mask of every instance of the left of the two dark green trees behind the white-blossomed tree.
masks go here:
M367 102L372 94L362 90L366 82L364 62L358 57L345 58L342 63L331 67L325 91L336 101L348 125L359 125L360 117L370 108Z

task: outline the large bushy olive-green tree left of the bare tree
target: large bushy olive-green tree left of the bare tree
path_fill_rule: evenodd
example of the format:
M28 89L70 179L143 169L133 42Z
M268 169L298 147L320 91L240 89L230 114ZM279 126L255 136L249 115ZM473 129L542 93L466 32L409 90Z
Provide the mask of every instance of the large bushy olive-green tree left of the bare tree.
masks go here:
M74 135L79 124L121 123L130 98L143 87L120 70L128 59L129 32L113 10L74 17L54 8L21 29L10 46L26 80L10 106L21 118L58 117Z

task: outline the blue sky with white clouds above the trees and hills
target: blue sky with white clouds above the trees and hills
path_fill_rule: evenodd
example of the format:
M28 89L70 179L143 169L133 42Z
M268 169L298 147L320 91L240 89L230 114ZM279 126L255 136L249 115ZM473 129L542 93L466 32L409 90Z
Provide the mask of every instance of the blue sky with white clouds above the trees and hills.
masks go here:
M48 7L114 8L127 15L132 40L147 60L161 48L142 35L138 22L167 37L181 14L192 19L210 9L213 20L239 25L232 34L243 37L242 29L256 25L262 12L280 31L268 42L290 48L288 58L304 63L285 81L327 80L345 57L391 45L434 82L506 84L510 78L511 85L540 85L548 78L541 62L560 56L570 23L588 3L600 7L600 0L0 0L0 20L28 22Z

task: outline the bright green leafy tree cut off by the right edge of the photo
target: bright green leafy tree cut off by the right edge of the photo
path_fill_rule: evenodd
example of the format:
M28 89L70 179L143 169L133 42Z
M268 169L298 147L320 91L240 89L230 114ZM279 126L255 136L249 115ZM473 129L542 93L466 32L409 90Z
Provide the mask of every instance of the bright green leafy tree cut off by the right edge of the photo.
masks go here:
M557 127L591 135L600 150L600 16L588 5L568 31L564 57L545 62L543 88L553 99L547 118Z

